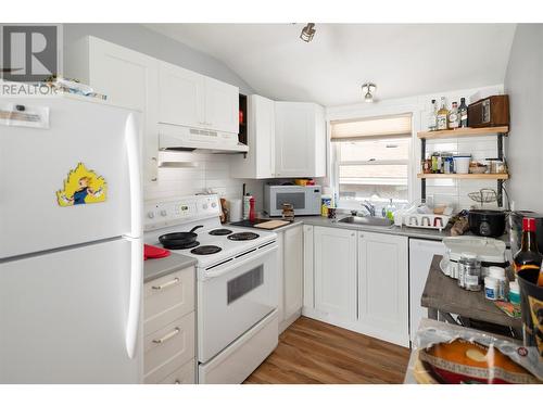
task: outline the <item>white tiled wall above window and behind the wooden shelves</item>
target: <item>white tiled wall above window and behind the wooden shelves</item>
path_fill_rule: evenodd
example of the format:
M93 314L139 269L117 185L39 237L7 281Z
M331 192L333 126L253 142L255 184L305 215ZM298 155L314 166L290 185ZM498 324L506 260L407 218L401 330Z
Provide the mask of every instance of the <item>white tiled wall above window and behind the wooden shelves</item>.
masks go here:
M451 90L446 92L422 94L412 98L390 99L372 104L357 103L352 105L341 105L327 107L327 119L349 119L349 118L363 118L376 117L384 115L394 115L403 113L413 114L413 149L411 161L413 163L409 170L409 200L420 199L420 180L417 179L417 173L420 173L420 140L417 139L417 131L426 130L427 118L430 112L430 101L432 99L440 100L443 96L446 98L449 105L453 101L459 102L462 97L466 98L469 103L470 99L477 92L484 94L501 94L503 93L503 85L495 85L490 87L471 88ZM483 160L488 157L496 157L496 137L483 136L473 139L450 139L446 142L428 142L427 152L432 151L449 151L453 153L469 152L473 155L475 160ZM460 179L428 179L427 180L427 196L432 195L434 202L438 204L450 204L455 209L469 208L475 204L467 193L478 191L481 188L496 189L495 181L484 180L460 180Z

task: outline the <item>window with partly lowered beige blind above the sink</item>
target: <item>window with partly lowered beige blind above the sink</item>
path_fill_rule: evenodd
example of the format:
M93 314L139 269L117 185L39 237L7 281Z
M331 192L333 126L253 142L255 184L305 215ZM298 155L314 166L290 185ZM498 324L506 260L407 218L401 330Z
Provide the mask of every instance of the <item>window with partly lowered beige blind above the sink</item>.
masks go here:
M332 122L334 178L349 200L408 201L411 115Z

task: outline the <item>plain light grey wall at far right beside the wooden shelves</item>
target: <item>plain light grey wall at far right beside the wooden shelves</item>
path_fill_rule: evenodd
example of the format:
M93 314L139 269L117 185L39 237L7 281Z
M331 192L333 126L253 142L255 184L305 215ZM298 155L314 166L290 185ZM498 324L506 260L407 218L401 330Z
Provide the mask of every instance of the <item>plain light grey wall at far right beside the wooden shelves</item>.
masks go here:
M543 213L543 24L517 26L504 85L512 201L516 209Z

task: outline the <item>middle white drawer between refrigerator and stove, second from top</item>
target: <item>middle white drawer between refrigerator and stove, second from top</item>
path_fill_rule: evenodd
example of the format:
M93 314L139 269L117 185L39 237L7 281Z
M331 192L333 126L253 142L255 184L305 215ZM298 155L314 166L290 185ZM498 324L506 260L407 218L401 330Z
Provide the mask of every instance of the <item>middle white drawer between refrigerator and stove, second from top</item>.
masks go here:
M194 357L194 313L147 335L143 340L143 371L152 370L179 358L186 363Z

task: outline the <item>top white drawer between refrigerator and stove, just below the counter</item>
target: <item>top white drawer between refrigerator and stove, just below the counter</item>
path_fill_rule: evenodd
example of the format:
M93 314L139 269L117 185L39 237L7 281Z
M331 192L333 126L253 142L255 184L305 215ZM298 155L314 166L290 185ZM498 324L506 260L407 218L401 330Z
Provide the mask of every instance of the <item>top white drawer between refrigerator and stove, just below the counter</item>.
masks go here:
M146 335L193 310L193 267L146 283L143 300Z

